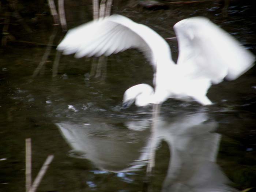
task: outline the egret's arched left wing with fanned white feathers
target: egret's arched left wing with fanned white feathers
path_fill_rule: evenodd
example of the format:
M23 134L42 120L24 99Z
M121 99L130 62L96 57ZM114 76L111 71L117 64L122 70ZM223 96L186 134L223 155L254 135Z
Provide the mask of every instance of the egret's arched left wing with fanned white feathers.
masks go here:
M154 30L125 16L112 15L68 31L57 50L75 57L109 56L137 48L155 66L160 58L171 60L170 47Z

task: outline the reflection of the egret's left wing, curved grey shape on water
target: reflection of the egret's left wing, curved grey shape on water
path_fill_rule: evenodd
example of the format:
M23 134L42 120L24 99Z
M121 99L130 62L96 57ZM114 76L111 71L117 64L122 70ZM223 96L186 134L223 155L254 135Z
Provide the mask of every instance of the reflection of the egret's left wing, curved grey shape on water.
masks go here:
M90 160L98 169L128 172L147 162L149 129L124 130L95 118L85 124L64 121L56 125L73 149L70 154Z

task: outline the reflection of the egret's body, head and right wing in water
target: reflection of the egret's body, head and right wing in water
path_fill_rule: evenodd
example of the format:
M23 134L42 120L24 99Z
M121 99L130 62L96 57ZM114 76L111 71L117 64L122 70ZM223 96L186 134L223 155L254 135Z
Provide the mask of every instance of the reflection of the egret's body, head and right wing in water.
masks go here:
M172 118L158 118L156 138L165 140L170 150L170 160L163 192L228 192L229 179L216 164L221 135L214 133L218 126L209 121L207 113L183 113ZM143 124L144 123L144 124ZM128 123L139 129L147 121Z

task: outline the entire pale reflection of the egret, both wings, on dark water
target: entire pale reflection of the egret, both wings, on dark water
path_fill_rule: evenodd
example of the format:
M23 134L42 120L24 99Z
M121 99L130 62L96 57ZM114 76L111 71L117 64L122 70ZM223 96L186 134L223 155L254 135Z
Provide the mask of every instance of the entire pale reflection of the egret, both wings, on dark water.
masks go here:
M146 165L150 157L150 118L125 120L124 129L90 119L87 124L58 123L63 137L80 158L101 170L128 172ZM162 191L235 191L216 163L221 135L206 112L181 113L157 123L155 148L165 140L170 160Z

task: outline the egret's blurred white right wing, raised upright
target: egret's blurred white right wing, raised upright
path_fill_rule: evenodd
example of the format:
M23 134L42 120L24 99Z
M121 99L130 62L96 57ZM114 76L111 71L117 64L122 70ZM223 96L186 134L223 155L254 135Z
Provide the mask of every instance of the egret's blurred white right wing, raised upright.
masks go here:
M253 66L255 56L226 31L201 17L181 20L174 25L178 38L178 65L190 75L205 76L213 83L238 78Z

